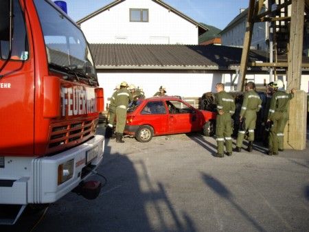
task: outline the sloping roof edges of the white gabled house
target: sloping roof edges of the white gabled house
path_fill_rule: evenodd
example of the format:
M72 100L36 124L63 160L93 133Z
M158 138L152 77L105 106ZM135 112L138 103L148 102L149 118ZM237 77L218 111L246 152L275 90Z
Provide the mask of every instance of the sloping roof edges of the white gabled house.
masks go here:
M84 16L84 18L78 20L76 23L78 25L80 25L80 23L84 23L84 21L87 21L88 19L91 19L92 17L104 12L105 10L109 10L111 9L113 6L122 3L123 1L126 0L115 0L111 3L109 3L108 5L105 5L104 7L96 10L95 12L92 12L91 14ZM163 6L164 8L170 10L171 12L174 12L175 14L181 16L183 19L189 21L190 23L196 25L196 27L198 27L198 35L200 36L201 34L205 33L208 31L208 28L205 27L204 25L202 25L201 23L198 23L196 21L194 21L193 19L191 19L189 16L183 14L182 12L180 12L179 10L176 10L175 8L173 8L172 6L168 5L167 3L161 1L161 0L151 0L151 1L155 1L155 3L158 3L159 5Z

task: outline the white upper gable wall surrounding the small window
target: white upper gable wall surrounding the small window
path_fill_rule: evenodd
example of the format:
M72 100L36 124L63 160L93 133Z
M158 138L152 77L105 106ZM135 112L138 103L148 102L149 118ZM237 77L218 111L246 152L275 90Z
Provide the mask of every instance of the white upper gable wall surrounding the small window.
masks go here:
M130 8L148 9L149 21L130 22ZM126 0L81 28L89 43L198 44L198 27L151 0Z

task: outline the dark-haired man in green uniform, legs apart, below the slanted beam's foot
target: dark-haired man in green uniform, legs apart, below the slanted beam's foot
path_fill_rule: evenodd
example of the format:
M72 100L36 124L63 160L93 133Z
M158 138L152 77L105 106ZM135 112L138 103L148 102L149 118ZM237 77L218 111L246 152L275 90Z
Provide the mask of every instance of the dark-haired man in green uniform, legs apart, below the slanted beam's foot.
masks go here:
M244 140L244 134L248 130L248 152L253 150L254 141L254 129L257 119L257 112L260 111L262 107L262 100L258 93L255 92L255 84L253 82L248 82L246 84L246 93L244 93L244 100L242 102L242 108L240 110L240 129L238 130L238 136L236 141L236 152L241 152L242 141Z

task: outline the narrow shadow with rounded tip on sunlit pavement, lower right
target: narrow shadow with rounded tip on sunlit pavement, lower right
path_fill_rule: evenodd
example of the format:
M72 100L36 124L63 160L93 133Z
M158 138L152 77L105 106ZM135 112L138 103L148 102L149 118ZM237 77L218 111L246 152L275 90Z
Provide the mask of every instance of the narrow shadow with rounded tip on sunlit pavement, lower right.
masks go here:
M235 202L233 200L233 195L231 194L231 192L229 192L229 189L227 189L225 187L225 185L223 185L222 183L220 183L220 181L218 181L216 178L214 178L213 176L206 174L204 172L201 172L203 181L205 182L205 184L207 185L207 187L209 187L210 189L212 189L216 194L218 194L218 196L220 196L221 198L227 200L228 202L231 203L231 205L233 205L233 207L235 207L240 214L247 220L249 221L253 227L255 227L255 229L257 229L258 231L266 231L260 224L258 224L258 222L256 222L246 211L244 211L244 209L242 209L242 207L240 207L240 205L238 205L237 202Z

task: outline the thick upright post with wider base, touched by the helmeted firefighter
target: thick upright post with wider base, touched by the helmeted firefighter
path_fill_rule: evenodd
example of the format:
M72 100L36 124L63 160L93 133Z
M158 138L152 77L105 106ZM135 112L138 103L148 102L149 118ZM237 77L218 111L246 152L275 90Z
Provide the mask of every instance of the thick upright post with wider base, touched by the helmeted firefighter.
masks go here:
M292 1L290 19L290 43L288 47L287 90L301 86L301 62L304 36L304 0ZM289 121L285 128L285 148L304 150L306 148L307 95L297 91L290 101Z

